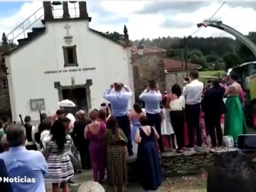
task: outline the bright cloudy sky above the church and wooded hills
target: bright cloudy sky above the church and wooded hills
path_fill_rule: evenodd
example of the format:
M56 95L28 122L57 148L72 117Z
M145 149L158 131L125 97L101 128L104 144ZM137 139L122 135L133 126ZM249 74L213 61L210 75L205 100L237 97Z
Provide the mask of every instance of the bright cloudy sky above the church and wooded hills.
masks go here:
M223 1L87 1L92 17L90 28L102 32L123 32L129 38L189 36L196 23L210 18ZM43 5L42 1L0 1L0 33L8 34ZM73 7L73 4L70 4ZM59 6L61 8L61 6ZM72 11L71 11L72 12ZM40 15L40 13L38 12ZM55 12L55 14L59 14ZM256 1L228 1L213 20L221 20L243 34L256 31ZM41 23L36 23L41 25ZM201 28L193 36L230 36L216 28ZM232 37L232 36L230 36Z

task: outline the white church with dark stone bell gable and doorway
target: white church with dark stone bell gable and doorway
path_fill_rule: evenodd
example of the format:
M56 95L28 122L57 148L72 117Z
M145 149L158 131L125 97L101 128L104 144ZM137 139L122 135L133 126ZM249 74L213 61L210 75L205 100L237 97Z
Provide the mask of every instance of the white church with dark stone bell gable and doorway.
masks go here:
M90 28L85 1L79 1L77 17L70 16L69 5L63 1L63 16L55 18L53 4L43 1L44 26L32 28L5 55L14 121L19 114L38 120L38 110L53 114L64 99L77 110L99 108L113 82L134 90L127 28L119 43Z

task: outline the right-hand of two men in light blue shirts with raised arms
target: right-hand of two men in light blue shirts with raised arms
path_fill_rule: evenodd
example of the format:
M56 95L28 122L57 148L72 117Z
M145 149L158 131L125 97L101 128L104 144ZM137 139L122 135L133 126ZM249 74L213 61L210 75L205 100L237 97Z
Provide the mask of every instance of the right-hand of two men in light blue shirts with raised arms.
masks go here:
M161 153L164 152L164 144L161 138L161 108L160 102L162 100L161 92L158 85L154 80L149 82L149 87L139 95L139 100L145 102L146 118L149 121L149 125L156 128L156 132L159 134L159 148Z

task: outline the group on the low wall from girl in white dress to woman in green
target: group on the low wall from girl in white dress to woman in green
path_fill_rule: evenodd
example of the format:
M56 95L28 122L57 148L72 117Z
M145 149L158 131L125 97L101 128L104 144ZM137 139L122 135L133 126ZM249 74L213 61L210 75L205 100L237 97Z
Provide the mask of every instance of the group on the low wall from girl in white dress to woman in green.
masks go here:
M178 153L191 148L201 151L203 144L220 149L223 147L223 135L238 144L238 135L247 133L243 105L238 75L230 74L227 81L215 78L204 86L198 80L198 72L192 71L189 79L183 82L183 90L179 85L173 85L161 100L159 134L164 135L167 141L164 147L176 149ZM163 150L161 144L159 141L160 151Z

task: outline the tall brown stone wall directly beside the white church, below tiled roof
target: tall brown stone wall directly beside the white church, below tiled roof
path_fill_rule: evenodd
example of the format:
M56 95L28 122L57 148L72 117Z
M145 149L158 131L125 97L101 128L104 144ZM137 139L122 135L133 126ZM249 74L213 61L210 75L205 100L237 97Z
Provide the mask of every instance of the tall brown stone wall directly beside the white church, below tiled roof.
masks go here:
M144 55L132 55L134 70L134 94L138 101L139 95L148 85L149 80L155 80L159 84L161 92L166 90L164 73L165 53L146 53Z

